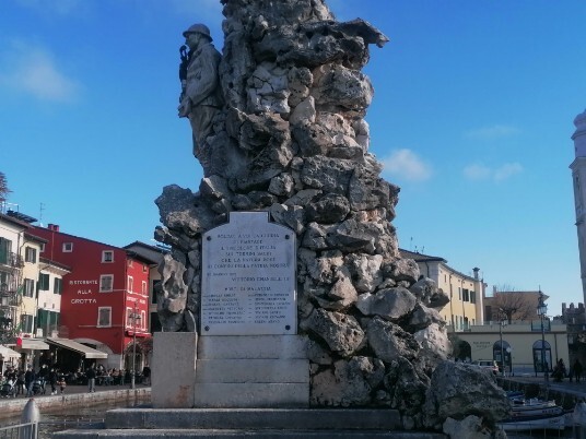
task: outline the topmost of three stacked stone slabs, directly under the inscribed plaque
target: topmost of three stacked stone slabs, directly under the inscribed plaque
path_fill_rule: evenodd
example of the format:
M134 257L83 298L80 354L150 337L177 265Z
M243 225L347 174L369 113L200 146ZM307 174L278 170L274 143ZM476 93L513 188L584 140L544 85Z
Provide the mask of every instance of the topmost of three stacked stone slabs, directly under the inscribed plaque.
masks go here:
M206 335L198 341L198 359L307 358L301 335Z

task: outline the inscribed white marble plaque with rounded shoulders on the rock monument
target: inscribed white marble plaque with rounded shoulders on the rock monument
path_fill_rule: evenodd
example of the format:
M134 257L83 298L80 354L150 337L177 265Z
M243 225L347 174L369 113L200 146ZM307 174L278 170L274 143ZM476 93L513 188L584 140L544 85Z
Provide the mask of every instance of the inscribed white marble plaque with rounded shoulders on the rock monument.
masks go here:
M232 212L202 239L201 335L296 334L293 230Z

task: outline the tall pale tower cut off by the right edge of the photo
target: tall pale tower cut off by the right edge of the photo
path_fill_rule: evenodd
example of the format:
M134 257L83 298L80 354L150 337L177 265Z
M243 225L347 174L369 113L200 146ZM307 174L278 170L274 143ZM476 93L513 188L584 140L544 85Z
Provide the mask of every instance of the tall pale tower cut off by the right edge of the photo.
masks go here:
M576 131L574 131L572 140L574 141L575 158L570 165L570 169L572 169L572 182L574 186L582 293L584 302L586 302L586 111L576 116L574 126Z

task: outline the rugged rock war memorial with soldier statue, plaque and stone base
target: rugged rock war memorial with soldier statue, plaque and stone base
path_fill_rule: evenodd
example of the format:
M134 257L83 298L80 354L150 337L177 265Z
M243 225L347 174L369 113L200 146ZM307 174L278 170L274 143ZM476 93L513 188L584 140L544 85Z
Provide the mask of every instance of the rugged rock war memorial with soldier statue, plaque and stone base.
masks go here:
M362 69L388 38L324 0L222 3L221 52L204 24L183 34L178 114L194 142L181 147L203 178L156 199L155 238L172 250L152 408L109 424L504 437L504 392L449 360L436 311L448 297L401 259L399 188L368 152Z

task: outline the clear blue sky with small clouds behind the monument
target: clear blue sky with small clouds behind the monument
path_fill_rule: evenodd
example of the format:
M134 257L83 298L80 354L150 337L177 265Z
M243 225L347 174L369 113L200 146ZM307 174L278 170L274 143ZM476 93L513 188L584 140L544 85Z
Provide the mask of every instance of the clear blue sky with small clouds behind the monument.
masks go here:
M336 0L372 47L371 152L401 187L402 248L493 285L583 301L570 139L586 108L586 2ZM9 202L107 244L151 242L166 185L201 168L177 118L181 32L212 0L0 2L0 170Z

